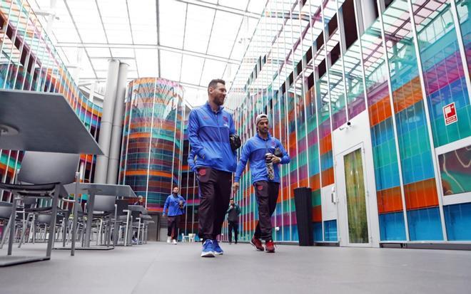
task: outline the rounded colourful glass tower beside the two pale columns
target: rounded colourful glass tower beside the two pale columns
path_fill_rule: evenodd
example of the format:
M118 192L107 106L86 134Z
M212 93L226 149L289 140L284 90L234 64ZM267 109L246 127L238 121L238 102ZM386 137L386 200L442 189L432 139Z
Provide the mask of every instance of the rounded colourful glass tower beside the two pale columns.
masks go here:
M128 84L119 183L145 196L149 211L162 211L180 187L185 107L183 88L163 78Z

